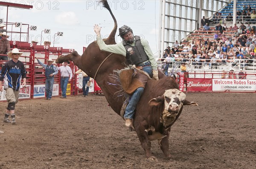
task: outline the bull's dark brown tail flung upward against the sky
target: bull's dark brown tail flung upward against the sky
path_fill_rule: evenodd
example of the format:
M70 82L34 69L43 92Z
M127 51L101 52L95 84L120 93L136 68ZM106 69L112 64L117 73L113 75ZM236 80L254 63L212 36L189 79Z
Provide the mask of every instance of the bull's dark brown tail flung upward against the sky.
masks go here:
M116 18L115 18L115 16L112 13L111 8L109 7L107 0L100 0L99 2L103 4L104 8L108 9L108 11L110 12L110 14L111 14L111 16L112 16L112 18L114 20L114 23L115 23L113 30L111 31L109 37L105 40L105 42L107 42L109 44L115 44L116 43L115 35L116 35L116 30L117 30Z

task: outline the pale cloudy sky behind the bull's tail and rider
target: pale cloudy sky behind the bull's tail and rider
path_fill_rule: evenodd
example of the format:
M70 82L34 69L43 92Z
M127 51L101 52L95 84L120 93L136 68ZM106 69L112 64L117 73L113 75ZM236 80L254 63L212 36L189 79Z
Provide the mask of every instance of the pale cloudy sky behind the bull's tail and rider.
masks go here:
M1 0L2 1L2 0ZM4 1L4 0L3 0ZM7 1L32 5L33 9L25 10L9 8L8 22L37 26L37 31L29 31L29 42L41 40L41 31L51 29L51 34L42 33L42 44L51 41L55 36L55 47L74 48L82 54L83 47L87 47L96 39L93 25L102 26L102 35L108 36L113 28L113 20L108 10L98 5L94 0L44 0L44 1ZM128 25L134 35L140 35L148 40L153 53L158 50L159 29L159 0L110 0L111 10L116 17L118 28ZM0 18L6 21L6 7L0 6ZM26 31L28 26L23 26ZM12 28L19 31L20 28ZM11 27L8 28L8 31ZM63 32L62 37L55 35ZM118 33L118 31L117 31ZM9 40L17 40L18 34L13 34ZM121 39L116 37L116 41ZM24 36L23 36L24 39ZM21 40L24 41L24 40Z

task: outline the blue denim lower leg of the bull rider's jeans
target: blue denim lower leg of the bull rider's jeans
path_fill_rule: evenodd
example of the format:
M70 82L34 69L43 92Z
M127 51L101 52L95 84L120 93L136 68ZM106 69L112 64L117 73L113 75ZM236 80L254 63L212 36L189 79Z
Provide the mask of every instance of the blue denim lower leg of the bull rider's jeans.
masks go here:
M137 90L135 90L135 92L132 94L131 99L125 109L125 115L124 118L127 119L132 119L134 116L134 110L136 108L136 104L139 102L140 100L140 96L142 95L144 91L143 87L139 87L137 88Z

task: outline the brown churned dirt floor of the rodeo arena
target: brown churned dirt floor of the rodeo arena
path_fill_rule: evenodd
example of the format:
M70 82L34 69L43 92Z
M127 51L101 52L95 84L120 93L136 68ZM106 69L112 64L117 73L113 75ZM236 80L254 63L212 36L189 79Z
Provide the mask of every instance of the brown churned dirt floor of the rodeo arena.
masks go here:
M256 94L186 95L199 107L185 107L173 125L171 160L152 141L158 162L145 159L104 96L20 101L17 125L3 123L0 103L0 169L255 169Z

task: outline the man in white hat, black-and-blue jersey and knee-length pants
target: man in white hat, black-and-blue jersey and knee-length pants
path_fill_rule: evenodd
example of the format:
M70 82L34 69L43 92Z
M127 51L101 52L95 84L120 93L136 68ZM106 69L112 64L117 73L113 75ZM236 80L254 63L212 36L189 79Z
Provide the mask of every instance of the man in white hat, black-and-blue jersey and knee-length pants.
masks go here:
M19 57L23 52L17 48L8 52L8 56L12 59L6 62L0 73L0 91L3 91L2 82L4 80L4 90L6 90L6 100L8 102L3 122L16 124L15 121L15 105L18 101L20 93L20 82L23 79L22 86L26 87L26 68L23 62L19 61ZM11 114L12 121L9 120Z

